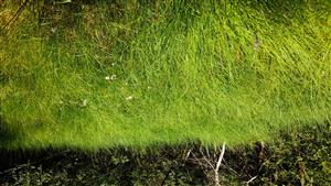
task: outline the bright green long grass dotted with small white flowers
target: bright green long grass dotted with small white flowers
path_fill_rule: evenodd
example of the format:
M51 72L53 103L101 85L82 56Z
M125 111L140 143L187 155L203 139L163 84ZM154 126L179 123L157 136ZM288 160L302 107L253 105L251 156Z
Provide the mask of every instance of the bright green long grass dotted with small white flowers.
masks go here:
M4 25L18 6L0 9ZM330 122L328 0L31 9L1 30L1 147L232 146Z

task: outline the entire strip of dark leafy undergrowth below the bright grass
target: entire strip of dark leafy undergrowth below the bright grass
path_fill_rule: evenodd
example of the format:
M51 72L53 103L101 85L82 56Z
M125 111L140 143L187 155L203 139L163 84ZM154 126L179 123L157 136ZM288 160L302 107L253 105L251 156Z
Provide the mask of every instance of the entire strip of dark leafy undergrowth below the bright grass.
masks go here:
M330 139L331 125L323 124L284 131L264 146L227 149L221 183L246 185L255 177L249 185L330 185ZM213 154L218 153L209 149L209 156L199 144L98 153L50 151L32 153L28 164L23 161L6 174L0 171L1 185L213 185L213 171L203 155L214 163Z

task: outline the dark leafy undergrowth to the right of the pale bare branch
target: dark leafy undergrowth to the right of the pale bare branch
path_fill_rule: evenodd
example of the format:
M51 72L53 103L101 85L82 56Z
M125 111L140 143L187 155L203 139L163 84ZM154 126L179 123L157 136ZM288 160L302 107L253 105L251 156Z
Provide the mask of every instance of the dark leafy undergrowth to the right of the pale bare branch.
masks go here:
M316 123L281 131L279 139L269 144L258 142L232 150L225 160L239 173L241 180L257 176L253 185L329 185L330 139L330 123Z

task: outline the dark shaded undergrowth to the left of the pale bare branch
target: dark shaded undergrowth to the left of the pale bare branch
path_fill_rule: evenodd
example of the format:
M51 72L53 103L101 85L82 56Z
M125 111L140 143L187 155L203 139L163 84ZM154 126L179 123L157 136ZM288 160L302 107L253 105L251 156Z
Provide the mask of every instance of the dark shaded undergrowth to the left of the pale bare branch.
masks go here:
M100 185L104 182L116 185L160 185L163 182L168 185L180 182L205 185L203 172L186 167L179 155L181 151L170 146L147 151L116 149L97 153L67 150L6 151L0 153L0 158L10 161L2 162L4 166L1 166L0 183L20 184L24 180L18 180L18 177L24 177L24 173L29 172L31 176L46 177L46 185Z

